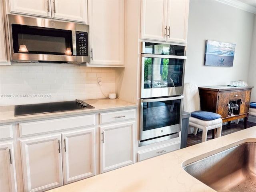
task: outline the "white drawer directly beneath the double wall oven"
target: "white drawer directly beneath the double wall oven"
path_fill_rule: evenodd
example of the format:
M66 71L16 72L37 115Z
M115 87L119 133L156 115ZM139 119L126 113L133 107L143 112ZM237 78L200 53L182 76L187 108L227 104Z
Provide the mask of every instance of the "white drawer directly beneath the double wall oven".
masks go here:
M180 141L138 152L138 161L180 149Z

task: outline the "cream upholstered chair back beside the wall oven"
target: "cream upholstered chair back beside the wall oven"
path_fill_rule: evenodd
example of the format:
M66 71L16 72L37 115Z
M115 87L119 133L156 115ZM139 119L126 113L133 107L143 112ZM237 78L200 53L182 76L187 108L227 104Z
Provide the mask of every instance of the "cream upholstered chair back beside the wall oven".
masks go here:
M198 86L194 83L185 83L183 110L191 113L193 111L199 111L200 109L200 96Z

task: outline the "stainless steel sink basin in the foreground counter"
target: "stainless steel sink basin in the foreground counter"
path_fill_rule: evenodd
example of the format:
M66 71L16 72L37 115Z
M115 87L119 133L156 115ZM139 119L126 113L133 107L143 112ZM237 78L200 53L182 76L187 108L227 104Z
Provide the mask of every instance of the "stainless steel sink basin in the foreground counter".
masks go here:
M256 142L239 144L183 169L218 192L256 192Z

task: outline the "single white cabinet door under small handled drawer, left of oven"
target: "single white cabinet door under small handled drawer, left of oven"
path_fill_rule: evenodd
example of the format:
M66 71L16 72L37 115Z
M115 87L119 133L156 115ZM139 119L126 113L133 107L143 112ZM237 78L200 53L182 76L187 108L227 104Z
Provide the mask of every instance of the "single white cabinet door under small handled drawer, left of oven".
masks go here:
M135 121L100 127L100 172L134 163Z

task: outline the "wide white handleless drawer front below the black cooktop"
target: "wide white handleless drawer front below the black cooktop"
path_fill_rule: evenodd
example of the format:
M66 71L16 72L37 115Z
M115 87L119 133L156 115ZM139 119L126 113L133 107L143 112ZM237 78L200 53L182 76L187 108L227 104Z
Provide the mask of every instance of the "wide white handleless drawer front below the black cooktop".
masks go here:
M94 114L19 124L20 137L87 126L95 126Z

